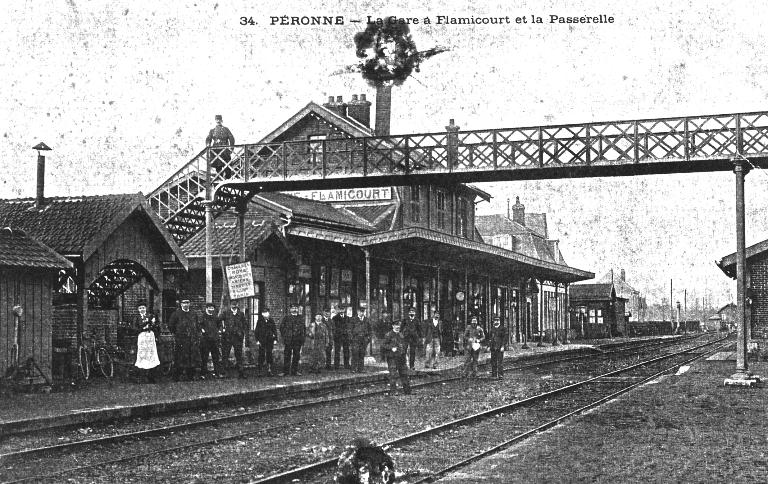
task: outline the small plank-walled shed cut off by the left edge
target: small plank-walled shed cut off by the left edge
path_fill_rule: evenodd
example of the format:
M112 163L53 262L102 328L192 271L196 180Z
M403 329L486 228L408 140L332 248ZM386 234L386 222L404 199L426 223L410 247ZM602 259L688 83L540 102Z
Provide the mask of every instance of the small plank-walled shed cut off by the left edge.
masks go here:
M52 379L52 294L72 263L21 230L0 229L0 371L33 358Z

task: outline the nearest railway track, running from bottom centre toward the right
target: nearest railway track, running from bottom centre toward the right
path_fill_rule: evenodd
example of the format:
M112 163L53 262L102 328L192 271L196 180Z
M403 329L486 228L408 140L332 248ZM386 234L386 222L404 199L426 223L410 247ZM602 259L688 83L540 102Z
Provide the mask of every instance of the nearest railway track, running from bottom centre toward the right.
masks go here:
M445 456L456 455L456 447L461 447L461 444L455 445L456 440L460 442L468 439L470 441L482 441L487 445L482 451L470 453L470 455L459 458L457 461L438 467L435 471L427 472L427 475L420 475L423 474L422 471L406 473L398 480L398 482L434 482L448 473L455 472L484 457L501 452L571 417L614 400L620 395L668 373L672 369L719 351L722 349L722 346L709 351L691 354L705 347L718 344L724 339L706 342L683 351L662 355L627 368L614 370L549 392L534 395L524 400L445 422L439 426L387 441L382 446L390 450L390 455L398 462L398 466L402 466L405 463L406 467L423 469L434 466L435 463L440 465L440 463L446 460L450 461ZM610 380L613 376L626 375L627 373L634 377L634 382ZM525 410L525 412L520 412L520 410ZM454 431L458 428L466 430L461 432ZM499 436L509 435L514 437L498 441ZM429 445L423 445L423 442L427 439L429 440ZM493 442L494 439L497 442ZM451 445L451 442L454 445ZM393 449L395 452L391 452ZM425 454L429 455L425 456ZM418 457L413 458L413 455ZM409 456L411 457L410 459L408 458ZM273 474L255 482L258 484L332 482L335 466L336 459L327 459L290 471Z

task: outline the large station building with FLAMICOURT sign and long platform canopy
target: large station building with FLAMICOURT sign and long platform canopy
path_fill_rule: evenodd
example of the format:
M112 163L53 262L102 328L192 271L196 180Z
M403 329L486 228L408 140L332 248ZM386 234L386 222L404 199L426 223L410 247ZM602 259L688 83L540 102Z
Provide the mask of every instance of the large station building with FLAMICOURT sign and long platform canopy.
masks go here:
M349 105L340 98L323 106L311 102L262 141L316 140L320 156L324 140L373 136L369 118L363 96ZM380 334L411 307L420 319L437 313L454 329L471 316L486 326L500 316L518 340L554 328L558 318L564 328L567 287L594 274L568 266L556 241L545 243L546 257L529 251L527 243L489 243L475 213L476 204L489 199L466 184L257 194L244 233L256 288L249 301L251 324L260 308L278 319L289 303L297 303L306 321L324 307L363 305ZM217 305L225 301L221 274L236 260L238 232L236 214L216 217ZM182 293L199 304L204 300L204 232L182 250L190 270L166 271L173 279L166 281L168 308Z

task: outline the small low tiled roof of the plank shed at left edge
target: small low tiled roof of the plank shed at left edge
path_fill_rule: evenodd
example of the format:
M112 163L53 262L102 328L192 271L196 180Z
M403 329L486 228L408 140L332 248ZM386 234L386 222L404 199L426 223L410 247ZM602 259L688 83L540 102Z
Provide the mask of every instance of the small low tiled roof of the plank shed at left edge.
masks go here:
M18 229L0 229L0 266L65 269L72 263Z

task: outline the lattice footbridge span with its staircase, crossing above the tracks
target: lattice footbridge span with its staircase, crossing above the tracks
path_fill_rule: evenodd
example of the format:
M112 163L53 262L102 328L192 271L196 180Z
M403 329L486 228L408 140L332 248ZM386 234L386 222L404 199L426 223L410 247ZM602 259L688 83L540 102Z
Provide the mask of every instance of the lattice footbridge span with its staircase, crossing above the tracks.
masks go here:
M768 112L205 148L149 196L177 241L257 192L731 170L768 162ZM216 167L215 169L209 168Z

